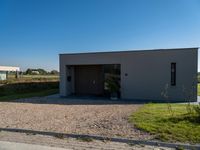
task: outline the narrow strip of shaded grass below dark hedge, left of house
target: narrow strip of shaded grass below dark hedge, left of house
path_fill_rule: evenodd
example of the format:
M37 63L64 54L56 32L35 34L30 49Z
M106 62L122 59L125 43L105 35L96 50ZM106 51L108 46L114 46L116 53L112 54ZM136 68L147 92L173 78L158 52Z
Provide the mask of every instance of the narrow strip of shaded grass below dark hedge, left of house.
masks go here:
M23 93L23 94L12 94L7 96L1 96L0 101L10 101L10 100L16 100L20 98L30 98L30 97L42 97L47 95L52 95L58 93L58 89L48 89L48 90L42 90L37 92L29 92L29 93Z

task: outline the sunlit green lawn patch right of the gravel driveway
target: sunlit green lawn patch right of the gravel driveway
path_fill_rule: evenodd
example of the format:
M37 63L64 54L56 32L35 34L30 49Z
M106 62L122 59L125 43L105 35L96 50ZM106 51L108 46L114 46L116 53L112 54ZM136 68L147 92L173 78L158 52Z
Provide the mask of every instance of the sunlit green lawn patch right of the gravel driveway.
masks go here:
M187 114L186 105L146 104L129 118L137 128L156 135L162 141L200 143L200 121Z

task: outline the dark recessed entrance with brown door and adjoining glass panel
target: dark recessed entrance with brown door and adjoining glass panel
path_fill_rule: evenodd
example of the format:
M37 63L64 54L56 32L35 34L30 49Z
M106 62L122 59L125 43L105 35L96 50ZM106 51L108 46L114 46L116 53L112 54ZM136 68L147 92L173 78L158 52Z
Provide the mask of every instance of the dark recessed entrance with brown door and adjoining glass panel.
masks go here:
M74 66L76 95L110 96L110 84L117 87L120 97L120 64ZM112 83L111 83L112 82Z

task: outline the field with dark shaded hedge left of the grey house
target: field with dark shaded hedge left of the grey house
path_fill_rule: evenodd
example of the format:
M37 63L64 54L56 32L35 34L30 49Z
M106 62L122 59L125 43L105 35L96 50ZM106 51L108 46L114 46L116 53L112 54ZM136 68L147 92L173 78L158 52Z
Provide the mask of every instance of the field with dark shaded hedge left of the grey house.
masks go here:
M0 101L55 94L58 88L59 76L23 75L15 79L9 75L7 81L0 81Z

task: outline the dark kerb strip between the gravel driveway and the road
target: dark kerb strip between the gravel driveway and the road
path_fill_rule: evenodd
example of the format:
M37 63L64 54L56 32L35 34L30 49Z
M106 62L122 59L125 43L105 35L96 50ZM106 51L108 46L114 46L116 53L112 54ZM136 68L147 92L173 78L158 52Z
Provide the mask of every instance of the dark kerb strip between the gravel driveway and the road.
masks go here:
M26 133L27 135L39 134L39 135L45 135L45 136L53 136L60 139L64 139L64 138L75 138L78 140L90 139L90 141L85 140L85 142L92 142L92 140L100 140L104 142L112 141L112 142L127 143L130 145L139 144L139 145L161 146L161 147L168 147L168 148L182 147L185 149L193 149L193 150L200 149L200 144L190 145L190 144L181 144L181 143L165 143L165 142L150 141L150 140L133 140L133 139L125 139L125 138L103 137L103 136L96 136L96 135L65 134L65 133L58 133L58 132L34 131L34 130L14 129L14 128L0 128L0 131Z

